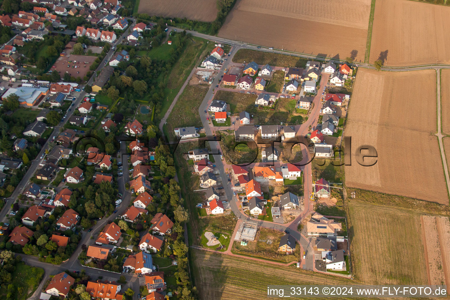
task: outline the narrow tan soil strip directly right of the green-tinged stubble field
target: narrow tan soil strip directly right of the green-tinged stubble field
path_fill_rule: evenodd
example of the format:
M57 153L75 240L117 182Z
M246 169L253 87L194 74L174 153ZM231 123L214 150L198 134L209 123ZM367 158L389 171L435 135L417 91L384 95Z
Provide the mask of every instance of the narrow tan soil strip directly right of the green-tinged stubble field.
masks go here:
M420 217L420 221L422 224L423 246L426 251L425 258L428 266L428 284L446 284L445 266L443 266L442 262L441 243L437 231L437 217L423 215ZM447 230L449 229L447 228ZM448 249L444 249L444 251L448 251Z

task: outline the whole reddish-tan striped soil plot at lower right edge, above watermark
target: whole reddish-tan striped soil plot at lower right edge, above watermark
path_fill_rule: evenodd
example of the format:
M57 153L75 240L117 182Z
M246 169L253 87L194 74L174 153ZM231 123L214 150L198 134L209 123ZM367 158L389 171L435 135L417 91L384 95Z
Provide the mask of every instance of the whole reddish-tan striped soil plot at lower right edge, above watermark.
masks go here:
M444 264L443 254L448 252L445 246L448 246L448 231L450 230L447 217L435 217L430 215L423 215L420 218L422 224L423 245L426 251L427 274L428 283L433 285L446 284L446 273L448 273L449 265ZM439 220L439 224L438 224ZM438 230L438 227L440 230ZM440 232L443 233L442 238ZM442 240L441 240L442 238ZM446 262L448 262L448 254L446 255Z

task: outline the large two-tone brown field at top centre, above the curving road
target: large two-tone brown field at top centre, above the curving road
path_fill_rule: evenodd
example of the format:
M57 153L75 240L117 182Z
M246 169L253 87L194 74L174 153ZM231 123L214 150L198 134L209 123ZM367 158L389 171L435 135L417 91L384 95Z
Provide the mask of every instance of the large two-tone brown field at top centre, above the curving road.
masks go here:
M370 4L370 0L238 0L218 36L313 55L352 56L360 61L365 55ZM346 11L351 13L339 13ZM310 32L326 32L326 36Z

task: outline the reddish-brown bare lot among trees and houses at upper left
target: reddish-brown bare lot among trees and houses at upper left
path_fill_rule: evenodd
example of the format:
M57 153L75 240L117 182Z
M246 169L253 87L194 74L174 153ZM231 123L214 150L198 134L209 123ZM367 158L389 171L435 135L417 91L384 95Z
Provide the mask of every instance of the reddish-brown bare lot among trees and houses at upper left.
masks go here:
M69 54L67 56L60 56L54 63L51 70L58 71L61 78L63 78L64 73L68 72L70 76L74 76L75 78L80 77L81 79L83 79L83 77L90 71L89 67L96 58L96 56L72 54ZM76 63L74 63L75 61ZM77 72L79 73L77 74Z

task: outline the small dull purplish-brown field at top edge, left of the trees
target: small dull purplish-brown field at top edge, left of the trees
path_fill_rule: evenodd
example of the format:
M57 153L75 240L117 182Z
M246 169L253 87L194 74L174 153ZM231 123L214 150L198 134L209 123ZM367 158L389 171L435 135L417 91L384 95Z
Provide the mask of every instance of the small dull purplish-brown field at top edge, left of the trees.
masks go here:
M140 0L138 13L212 22L216 19L217 8L214 0Z

